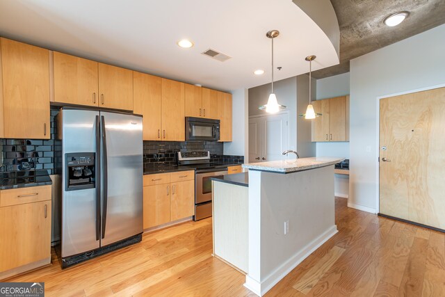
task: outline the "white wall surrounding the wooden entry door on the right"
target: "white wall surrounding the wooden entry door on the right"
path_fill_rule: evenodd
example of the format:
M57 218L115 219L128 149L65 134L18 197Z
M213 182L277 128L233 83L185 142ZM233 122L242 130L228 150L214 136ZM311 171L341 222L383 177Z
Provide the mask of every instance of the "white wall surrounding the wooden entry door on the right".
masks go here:
M377 98L445 83L444 40L442 25L351 61L351 207L378 210Z

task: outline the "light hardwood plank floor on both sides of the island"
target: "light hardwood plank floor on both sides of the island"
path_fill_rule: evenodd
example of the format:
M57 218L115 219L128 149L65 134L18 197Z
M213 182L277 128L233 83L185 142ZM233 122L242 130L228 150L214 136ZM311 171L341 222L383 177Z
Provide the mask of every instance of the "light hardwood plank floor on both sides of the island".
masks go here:
M336 198L339 232L266 296L445 296L444 234L346 202ZM254 296L211 244L209 218L64 271L53 255L52 266L8 281L45 282L47 296Z

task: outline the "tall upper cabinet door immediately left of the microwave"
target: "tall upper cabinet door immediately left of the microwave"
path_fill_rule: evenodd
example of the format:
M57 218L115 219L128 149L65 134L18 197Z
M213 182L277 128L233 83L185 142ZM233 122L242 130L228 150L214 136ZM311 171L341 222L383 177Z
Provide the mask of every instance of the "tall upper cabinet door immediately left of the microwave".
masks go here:
M162 79L161 89L162 139L185 141L184 83Z

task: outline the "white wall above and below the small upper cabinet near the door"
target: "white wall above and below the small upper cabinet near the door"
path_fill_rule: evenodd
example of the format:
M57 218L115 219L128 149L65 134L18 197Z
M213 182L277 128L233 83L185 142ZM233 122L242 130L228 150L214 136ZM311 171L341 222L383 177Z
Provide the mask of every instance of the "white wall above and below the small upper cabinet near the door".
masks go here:
M325 79L317 79L317 100L348 95L349 80L349 72L326 77ZM341 156L348 159L349 142L317 143L316 156Z

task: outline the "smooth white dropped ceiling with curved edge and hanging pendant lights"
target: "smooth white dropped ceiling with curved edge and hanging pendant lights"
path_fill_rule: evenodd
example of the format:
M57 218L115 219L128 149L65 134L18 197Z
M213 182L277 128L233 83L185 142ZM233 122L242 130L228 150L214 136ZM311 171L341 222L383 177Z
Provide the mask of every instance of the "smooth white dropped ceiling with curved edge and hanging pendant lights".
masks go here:
M318 57L314 70L339 62L327 35L292 1L271 6L272 0L0 0L0 35L219 90L270 82L270 29L280 30L275 80L307 72L311 54ZM181 49L181 38L195 47ZM232 58L203 56L209 48ZM255 76L259 68L266 74Z

